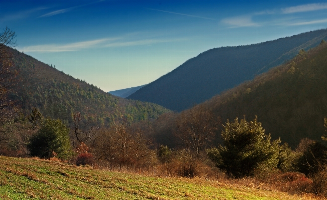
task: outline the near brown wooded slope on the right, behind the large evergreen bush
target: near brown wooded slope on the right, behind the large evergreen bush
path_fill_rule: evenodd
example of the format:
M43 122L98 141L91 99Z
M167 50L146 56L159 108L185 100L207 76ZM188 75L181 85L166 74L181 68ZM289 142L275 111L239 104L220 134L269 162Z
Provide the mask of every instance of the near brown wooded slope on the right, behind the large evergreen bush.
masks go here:
M321 141L327 116L326 69L324 43L203 104L223 122L257 115L266 133L292 147L305 137Z

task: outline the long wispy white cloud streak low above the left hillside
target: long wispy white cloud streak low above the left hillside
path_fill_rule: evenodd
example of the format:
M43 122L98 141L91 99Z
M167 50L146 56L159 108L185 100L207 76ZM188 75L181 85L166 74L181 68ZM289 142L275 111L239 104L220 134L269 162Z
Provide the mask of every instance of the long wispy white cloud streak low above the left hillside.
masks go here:
M178 42L185 39L146 39L146 40L134 40L126 41L123 38L103 38L98 40L83 41L69 44L46 44L46 45L35 45L18 48L19 51L23 52L71 52L79 51L90 48L108 48L108 47L127 47L127 46L141 46L141 45L152 45L157 43L167 42Z

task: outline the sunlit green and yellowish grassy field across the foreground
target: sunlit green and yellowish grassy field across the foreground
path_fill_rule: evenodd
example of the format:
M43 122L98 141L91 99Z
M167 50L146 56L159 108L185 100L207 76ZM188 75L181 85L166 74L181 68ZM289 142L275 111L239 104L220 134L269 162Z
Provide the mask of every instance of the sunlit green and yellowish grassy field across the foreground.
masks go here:
M0 199L308 199L200 178L162 178L0 156Z

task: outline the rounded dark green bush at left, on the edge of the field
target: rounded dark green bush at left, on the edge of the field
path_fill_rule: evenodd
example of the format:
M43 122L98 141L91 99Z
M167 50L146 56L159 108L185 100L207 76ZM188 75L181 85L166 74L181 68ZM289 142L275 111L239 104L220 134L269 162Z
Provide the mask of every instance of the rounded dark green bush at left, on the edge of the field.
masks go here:
M72 155L69 129L59 119L48 118L30 138L28 149L31 156L50 158L55 153L58 158L67 159Z

